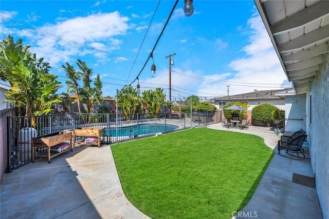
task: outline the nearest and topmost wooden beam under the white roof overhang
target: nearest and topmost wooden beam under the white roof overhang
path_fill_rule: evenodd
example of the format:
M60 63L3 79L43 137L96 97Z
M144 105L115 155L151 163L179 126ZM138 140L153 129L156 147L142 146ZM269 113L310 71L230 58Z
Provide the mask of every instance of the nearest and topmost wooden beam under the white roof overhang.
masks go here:
M273 35L285 33L315 21L321 19L329 14L329 3L328 1L320 1L312 6L309 6L282 21L273 24L270 28Z

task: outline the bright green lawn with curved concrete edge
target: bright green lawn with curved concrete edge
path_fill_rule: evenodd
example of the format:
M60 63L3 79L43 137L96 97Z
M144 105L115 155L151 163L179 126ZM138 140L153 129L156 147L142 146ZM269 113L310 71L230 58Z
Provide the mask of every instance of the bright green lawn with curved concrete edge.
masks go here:
M261 137L207 128L111 147L126 197L152 218L231 218L274 155Z

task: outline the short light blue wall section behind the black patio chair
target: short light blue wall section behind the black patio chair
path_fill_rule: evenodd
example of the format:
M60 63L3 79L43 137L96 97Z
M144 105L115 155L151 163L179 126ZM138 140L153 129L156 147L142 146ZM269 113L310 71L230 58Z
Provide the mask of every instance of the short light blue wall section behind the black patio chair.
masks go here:
M306 95L286 96L285 131L306 130Z

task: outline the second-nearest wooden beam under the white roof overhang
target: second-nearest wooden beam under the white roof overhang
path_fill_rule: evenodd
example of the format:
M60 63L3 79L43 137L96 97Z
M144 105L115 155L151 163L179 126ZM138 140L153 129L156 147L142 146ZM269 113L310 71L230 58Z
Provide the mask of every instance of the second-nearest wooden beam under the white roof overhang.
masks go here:
M279 52L289 52L303 47L311 46L329 39L329 25L325 25L314 31L301 35L291 41L278 45Z

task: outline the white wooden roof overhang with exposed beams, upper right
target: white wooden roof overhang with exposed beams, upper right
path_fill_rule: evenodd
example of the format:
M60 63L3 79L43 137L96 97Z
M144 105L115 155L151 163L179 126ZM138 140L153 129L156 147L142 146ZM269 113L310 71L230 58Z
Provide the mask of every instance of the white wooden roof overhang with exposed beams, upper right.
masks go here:
M329 51L329 2L254 0L297 94L309 89Z

